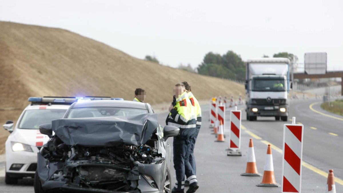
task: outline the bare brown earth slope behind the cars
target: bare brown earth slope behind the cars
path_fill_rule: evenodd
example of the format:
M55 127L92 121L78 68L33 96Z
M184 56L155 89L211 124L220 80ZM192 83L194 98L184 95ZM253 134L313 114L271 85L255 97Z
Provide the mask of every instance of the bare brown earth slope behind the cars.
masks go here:
M0 22L0 66L0 108L24 108L29 96L132 100L138 87L147 91L147 102L157 104L171 101L173 86L181 81L189 82L198 100L244 94L235 82L137 59L67 30L11 22ZM19 113L0 111L0 123L16 121ZM8 134L0 131L3 143Z

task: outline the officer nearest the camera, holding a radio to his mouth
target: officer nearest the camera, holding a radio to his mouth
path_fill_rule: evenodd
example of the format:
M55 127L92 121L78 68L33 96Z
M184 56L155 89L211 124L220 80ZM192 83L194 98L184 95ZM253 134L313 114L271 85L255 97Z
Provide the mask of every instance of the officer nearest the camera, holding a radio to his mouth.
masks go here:
M185 85L177 83L174 88L175 99L169 107L167 125L180 128L180 132L174 137L174 168L176 173L176 183L171 192L184 192L185 174L190 182L187 193L195 192L199 188L197 177L193 172L188 158L191 151L191 141L196 137L196 117L194 116L193 106L188 98Z

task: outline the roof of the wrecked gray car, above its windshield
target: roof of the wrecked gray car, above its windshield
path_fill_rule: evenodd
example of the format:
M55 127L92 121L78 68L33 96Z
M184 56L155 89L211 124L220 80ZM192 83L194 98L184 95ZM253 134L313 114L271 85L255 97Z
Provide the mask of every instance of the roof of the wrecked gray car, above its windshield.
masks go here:
M94 101L80 101L73 103L71 108L82 107L125 107L135 109L147 109L149 103L135 102L135 101L117 101L117 100L94 100Z

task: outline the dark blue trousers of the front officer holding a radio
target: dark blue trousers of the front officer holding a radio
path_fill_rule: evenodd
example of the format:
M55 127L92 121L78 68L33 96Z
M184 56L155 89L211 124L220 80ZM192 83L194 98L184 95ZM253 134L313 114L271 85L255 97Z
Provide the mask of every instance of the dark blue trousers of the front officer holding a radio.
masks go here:
M192 139L174 138L173 152L174 152L174 169L176 173L177 189L184 185L185 174L186 177L194 175L193 168L189 163L189 156L191 152Z

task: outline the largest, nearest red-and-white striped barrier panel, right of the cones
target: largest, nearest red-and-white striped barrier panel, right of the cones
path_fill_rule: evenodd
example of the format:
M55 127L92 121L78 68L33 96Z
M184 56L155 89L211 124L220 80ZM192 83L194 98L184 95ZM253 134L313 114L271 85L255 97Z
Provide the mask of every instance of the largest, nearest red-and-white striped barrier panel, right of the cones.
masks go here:
M303 159L304 125L283 126L282 192L301 191L301 161Z

